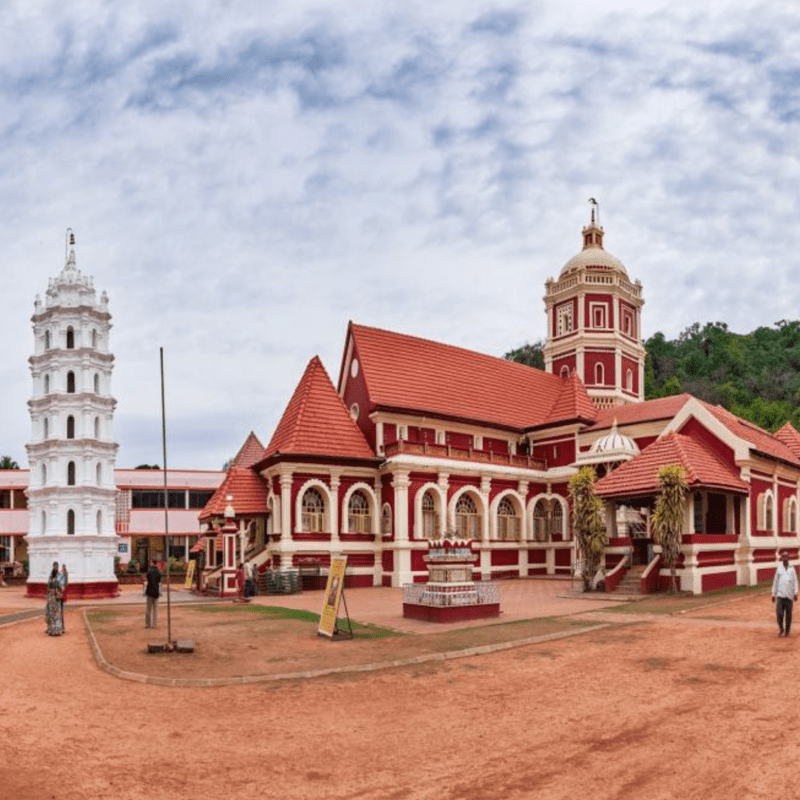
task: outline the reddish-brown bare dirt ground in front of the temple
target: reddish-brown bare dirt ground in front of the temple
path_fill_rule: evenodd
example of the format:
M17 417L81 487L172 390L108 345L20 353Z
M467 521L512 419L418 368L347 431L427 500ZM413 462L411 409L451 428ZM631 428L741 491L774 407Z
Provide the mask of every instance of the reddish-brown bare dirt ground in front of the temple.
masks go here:
M55 639L41 619L8 625L0 628L0 798L793 796L800 639L777 637L769 595L649 610L540 621L525 633L606 627L488 655L213 688L102 671L79 611ZM185 659L183 674L212 664L248 674L270 658L281 659L270 662L280 671L385 660L442 648L436 639L451 635L373 632L331 643L302 621L181 609L183 631L195 626L195 655L202 644L211 659L201 663L131 655L125 641L141 649L153 638L137 627L140 615L88 613L110 661L135 668L138 658L159 672ZM445 644L502 638L481 631Z

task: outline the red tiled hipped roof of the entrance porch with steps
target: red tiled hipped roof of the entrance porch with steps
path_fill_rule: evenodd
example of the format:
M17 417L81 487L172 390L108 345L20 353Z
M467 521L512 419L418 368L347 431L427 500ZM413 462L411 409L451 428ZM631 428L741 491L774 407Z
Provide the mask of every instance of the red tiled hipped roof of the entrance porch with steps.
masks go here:
M643 497L659 491L658 470L680 464L690 489L703 487L745 494L748 485L735 470L701 442L681 433L667 434L638 456L617 467L595 484L598 497Z

